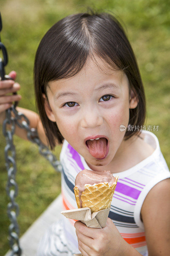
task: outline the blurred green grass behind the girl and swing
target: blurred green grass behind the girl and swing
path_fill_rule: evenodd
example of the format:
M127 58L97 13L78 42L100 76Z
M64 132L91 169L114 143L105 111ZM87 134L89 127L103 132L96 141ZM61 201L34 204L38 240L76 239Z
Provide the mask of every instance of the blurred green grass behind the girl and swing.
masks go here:
M7 48L9 63L6 73L15 70L21 85L20 107L35 108L33 91L33 61L42 36L58 20L86 12L90 6L99 12L112 12L125 28L136 54L147 99L146 125L159 125L153 132L170 166L169 159L169 84L170 84L170 5L168 0L0 0L3 20L1 41ZM6 214L9 198L5 186L7 173L4 163L5 140L0 130L0 255L9 249ZM60 193L60 174L38 153L36 145L14 136L17 152L17 182L20 207L20 235ZM54 154L59 158L61 147Z

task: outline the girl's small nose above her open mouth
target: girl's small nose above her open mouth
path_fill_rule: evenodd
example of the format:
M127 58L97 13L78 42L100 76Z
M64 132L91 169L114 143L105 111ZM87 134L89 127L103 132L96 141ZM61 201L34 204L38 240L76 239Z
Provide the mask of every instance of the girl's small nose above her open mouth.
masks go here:
M103 123L103 117L94 109L86 109L82 114L80 125L82 128L95 128Z

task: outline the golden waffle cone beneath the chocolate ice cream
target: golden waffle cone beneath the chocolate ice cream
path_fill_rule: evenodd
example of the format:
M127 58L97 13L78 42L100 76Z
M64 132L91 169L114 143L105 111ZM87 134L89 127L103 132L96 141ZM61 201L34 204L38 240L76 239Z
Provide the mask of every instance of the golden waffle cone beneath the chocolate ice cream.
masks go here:
M109 185L108 182L100 182L98 184L85 184L85 190L81 194L82 207L89 207L91 212L98 212L110 207L113 194L115 192L118 176L115 182ZM78 196L78 187L74 187L74 194L78 208L80 208L80 201Z

